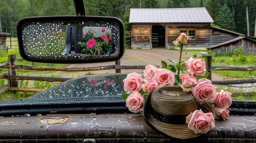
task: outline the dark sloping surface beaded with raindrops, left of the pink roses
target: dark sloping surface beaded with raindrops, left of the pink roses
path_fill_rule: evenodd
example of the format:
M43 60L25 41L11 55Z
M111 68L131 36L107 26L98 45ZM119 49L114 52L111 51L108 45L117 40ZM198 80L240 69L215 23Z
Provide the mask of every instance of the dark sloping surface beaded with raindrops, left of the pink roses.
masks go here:
M29 98L0 102L0 106L123 102L126 74L87 76L63 82Z

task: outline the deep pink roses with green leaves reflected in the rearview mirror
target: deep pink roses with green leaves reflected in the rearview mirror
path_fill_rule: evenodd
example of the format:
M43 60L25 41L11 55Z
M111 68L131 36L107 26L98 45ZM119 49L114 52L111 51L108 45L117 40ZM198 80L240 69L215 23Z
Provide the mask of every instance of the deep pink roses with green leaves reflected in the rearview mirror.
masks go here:
M106 29L102 28L101 32L105 33ZM95 37L96 33L97 29L89 29L88 32L83 33L83 38L78 42L81 47L81 53L102 55L106 54L106 52L112 48L113 41L110 32L106 32L106 34L98 38Z

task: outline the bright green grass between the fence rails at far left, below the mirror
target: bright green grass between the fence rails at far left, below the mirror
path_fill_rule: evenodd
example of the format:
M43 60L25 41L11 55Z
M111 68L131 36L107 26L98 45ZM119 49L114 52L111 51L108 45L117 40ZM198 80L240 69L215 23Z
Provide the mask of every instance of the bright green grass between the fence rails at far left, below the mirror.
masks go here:
M17 59L21 59L20 52L18 51L18 42L17 38L12 38L11 41L12 48L8 49L7 51L0 51L0 64L8 62L8 55L11 54L16 54ZM10 39L7 39L7 46L10 48ZM40 66L40 67L66 67L66 64L49 64L49 63L33 63L31 61L17 61L17 65L27 65L27 66ZM8 71L8 69L0 69L0 73L3 71ZM38 74L40 73L40 74ZM18 76L31 76L31 75L36 75L36 76L41 76L42 74L48 74L49 76L55 76L54 73L56 71L38 71L38 70L17 70L17 75ZM50 88L51 86L57 85L60 82L44 82L44 81L32 81L32 80L18 80L18 87L20 88ZM8 80L7 79L0 79L0 87L7 85ZM35 93L31 92L11 92L7 91L4 94L1 94L0 101L5 101L5 100L16 100L20 98L27 98L30 97L31 95L34 95Z

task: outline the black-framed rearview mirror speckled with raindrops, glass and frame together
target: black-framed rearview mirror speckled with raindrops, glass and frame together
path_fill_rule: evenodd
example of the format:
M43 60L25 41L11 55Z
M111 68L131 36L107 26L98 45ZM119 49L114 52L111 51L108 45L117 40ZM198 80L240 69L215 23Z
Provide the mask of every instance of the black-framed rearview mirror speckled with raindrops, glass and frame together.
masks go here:
M124 23L115 17L29 17L17 25L21 57L43 63L119 60L124 34Z

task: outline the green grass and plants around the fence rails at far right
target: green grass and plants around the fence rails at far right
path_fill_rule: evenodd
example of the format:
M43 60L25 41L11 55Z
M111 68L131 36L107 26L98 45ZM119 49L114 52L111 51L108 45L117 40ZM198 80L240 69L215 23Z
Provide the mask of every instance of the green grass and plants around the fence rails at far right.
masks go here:
M233 65L233 66L255 66L256 65L256 54L245 54L243 48L240 47L229 53L221 53L218 52L212 56L212 65L214 66L223 66L223 65ZM233 79L256 79L256 71L238 71L238 70L215 70L214 73L220 74L224 76L224 80L233 80ZM256 87L240 87L240 88L232 88L229 87L225 89L231 93L242 93L242 92L255 92ZM245 101L256 101L256 95L251 96L236 96L240 100Z

